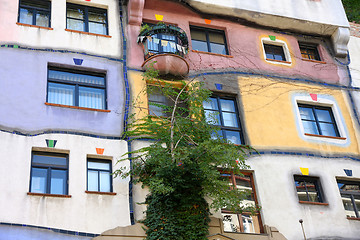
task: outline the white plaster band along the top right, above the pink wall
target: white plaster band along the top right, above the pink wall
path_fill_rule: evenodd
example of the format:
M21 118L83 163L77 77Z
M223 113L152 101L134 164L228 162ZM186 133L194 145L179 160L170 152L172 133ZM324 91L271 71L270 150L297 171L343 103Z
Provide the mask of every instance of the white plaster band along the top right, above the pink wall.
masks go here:
M349 27L341 0L187 0L206 13L241 17L281 29L332 34L329 26ZM284 17L287 19L280 19ZM312 26L314 24L314 26ZM323 25L323 28L315 28ZM325 27L328 25L328 27ZM331 32L332 31L332 32Z

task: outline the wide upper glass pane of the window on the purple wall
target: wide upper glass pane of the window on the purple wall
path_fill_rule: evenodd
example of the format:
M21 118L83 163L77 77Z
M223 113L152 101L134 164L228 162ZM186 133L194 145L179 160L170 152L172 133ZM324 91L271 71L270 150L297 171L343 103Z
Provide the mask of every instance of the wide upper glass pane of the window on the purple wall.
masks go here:
M49 78L77 83L95 84L100 86L105 85L104 77L59 70L49 70Z

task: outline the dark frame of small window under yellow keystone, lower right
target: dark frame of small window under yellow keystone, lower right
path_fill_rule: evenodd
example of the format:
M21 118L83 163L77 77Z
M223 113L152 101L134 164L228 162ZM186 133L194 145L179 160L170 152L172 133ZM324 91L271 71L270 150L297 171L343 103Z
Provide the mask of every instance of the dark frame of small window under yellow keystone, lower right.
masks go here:
M298 196L299 202L309 202L309 203L325 203L325 197L324 197L324 193L321 187L321 182L320 182L320 178L319 177L314 177L314 176L304 176L304 175L294 175L294 186L295 186L295 190L296 190L296 194ZM304 182L304 189L305 189L305 193L306 193L306 197L307 197L307 201L304 200L300 200L299 198L299 192L298 192L298 187L296 186L296 182ZM306 182L312 182L314 185L314 188L316 190L317 193L317 202L311 201L310 199L310 193L308 191ZM302 186L301 186L302 187ZM310 187L310 186L309 186Z

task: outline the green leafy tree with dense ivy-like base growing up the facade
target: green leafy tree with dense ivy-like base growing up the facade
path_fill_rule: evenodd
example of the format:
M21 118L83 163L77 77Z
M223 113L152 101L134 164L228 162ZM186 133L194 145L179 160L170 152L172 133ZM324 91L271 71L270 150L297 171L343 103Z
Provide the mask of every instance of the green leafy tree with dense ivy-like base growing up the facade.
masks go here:
M214 137L218 129L206 120L202 107L211 92L202 83L183 81L174 87L152 69L144 79L153 83L147 93L160 91L173 106L153 103L167 117L133 116L126 136L148 139L151 144L131 152L132 169L119 169L115 174L131 175L135 183L149 189L142 221L148 240L207 239L211 208L255 210L241 204L249 192L230 189L228 179L221 177L222 171L241 175L250 147Z

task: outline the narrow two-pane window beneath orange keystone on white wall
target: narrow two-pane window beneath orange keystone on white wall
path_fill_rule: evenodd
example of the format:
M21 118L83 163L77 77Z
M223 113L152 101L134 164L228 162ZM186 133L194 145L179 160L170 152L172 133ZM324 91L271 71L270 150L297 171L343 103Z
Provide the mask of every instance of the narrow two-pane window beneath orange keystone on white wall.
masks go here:
M88 159L87 190L112 192L111 161Z

